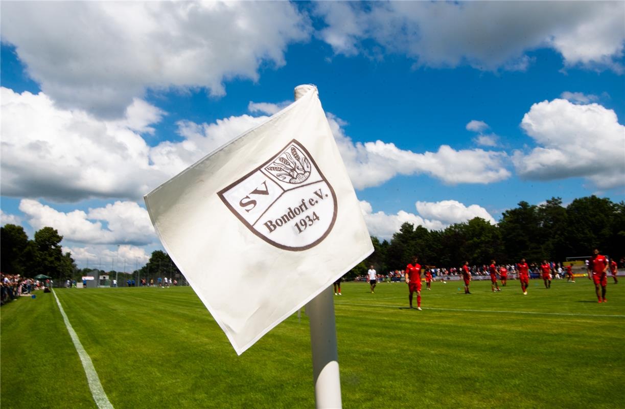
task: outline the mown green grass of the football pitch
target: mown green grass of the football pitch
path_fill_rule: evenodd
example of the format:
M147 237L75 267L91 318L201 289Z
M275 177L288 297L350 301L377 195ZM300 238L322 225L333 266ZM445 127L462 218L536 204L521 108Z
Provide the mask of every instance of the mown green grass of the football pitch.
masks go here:
M416 311L405 284L343 284L345 408L625 407L625 282L605 304L585 278L459 286L434 283ZM303 313L236 356L191 288L55 291L116 409L314 407ZM0 320L2 409L96 407L52 294Z

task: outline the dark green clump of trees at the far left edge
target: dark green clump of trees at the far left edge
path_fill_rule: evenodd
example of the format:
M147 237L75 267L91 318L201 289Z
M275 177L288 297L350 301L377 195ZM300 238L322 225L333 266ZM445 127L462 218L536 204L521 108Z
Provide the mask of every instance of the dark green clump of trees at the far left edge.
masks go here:
M34 240L28 240L22 226L0 228L0 268L2 273L34 277L38 274L56 280L72 278L76 271L70 253L61 250L63 236L51 227L37 230Z

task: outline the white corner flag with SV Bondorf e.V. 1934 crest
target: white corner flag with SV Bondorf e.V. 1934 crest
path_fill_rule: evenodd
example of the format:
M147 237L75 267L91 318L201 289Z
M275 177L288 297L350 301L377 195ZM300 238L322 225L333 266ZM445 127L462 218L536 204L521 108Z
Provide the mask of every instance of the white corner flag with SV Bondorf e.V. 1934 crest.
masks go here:
M237 354L373 251L314 86L145 196Z

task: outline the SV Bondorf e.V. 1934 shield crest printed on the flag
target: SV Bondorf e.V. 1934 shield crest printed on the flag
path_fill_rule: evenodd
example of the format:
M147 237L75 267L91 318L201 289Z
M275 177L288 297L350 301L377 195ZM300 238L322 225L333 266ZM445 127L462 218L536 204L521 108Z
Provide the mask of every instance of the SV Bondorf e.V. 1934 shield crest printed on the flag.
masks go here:
M316 246L336 221L334 189L295 139L217 194L252 233L283 250Z

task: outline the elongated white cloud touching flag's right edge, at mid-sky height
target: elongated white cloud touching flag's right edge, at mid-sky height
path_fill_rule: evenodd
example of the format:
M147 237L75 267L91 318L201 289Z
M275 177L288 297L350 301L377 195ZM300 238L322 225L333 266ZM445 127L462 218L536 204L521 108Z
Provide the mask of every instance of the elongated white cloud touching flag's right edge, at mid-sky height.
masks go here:
M356 189L378 186L397 174L427 174L447 184L492 183L509 178L507 154L483 149L457 151L442 145L436 152L414 153L382 141L354 143L336 118L329 123Z

